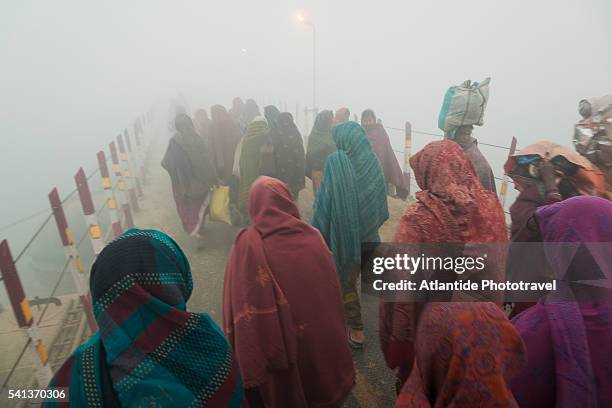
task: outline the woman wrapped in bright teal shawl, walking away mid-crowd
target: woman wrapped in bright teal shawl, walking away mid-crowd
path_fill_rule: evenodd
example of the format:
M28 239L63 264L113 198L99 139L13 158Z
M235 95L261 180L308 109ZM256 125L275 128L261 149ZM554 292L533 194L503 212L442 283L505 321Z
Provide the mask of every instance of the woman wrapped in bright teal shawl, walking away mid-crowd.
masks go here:
M389 218L387 188L380 162L359 124L337 125L333 138L337 151L325 160L312 225L321 231L334 256L349 343L361 347L363 321L357 293L361 243L380 241L378 229Z

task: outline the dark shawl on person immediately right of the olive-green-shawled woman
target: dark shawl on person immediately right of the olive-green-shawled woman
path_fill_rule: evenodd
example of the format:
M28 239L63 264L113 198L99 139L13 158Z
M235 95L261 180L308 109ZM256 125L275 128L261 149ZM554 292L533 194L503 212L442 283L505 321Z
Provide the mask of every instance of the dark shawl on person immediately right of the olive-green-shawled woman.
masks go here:
M297 199L305 185L304 142L289 112L279 113L276 130L272 132L271 138L274 145L276 178L287 184L289 191Z

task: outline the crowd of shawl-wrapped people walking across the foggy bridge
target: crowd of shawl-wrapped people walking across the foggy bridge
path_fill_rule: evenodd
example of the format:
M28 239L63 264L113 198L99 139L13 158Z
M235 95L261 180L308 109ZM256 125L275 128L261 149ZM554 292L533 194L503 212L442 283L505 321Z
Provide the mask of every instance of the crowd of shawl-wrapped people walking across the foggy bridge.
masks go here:
M361 245L380 241L388 196L409 194L385 128L370 109L361 123L348 108L322 110L304 148L290 113L266 106L262 114L252 99L235 98L229 112L214 105L210 118L199 109L192 120L174 106L171 115L162 166L185 232L203 247L220 186L229 187L231 223L244 227L227 260L223 328L187 311L191 269L172 238L130 230L91 271L100 330L51 386L69 387L74 406L341 406L356 381L351 349L368 341ZM555 276L569 268L609 277L611 247L587 244L612 242L612 134L608 144L595 139L596 154L594 142L578 153L541 142L512 155L505 171L519 195L508 229L472 132L472 124L457 126L410 158L420 191L394 242L462 251L509 243L510 254L521 242L577 243L575 254L554 245L541 252ZM296 205L307 179L311 220ZM479 278L504 280L517 258L487 264ZM380 301L397 407L612 406L612 302L548 294L517 303L508 317L503 293L428 300Z

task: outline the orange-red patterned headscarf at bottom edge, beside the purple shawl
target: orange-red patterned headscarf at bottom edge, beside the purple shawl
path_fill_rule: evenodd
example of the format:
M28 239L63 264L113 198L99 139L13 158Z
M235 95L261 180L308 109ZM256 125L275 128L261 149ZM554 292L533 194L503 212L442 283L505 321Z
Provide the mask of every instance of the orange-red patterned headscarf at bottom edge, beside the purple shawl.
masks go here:
M518 407L508 381L525 346L493 303L429 303L421 315L416 365L398 408Z

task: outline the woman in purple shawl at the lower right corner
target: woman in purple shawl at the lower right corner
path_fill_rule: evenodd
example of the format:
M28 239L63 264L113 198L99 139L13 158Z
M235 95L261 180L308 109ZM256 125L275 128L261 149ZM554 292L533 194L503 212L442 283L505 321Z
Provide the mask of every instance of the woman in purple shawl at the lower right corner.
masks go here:
M575 281L581 279L577 274L586 279L603 274L609 281L610 201L573 197L538 208L535 219L557 277L570 276ZM574 250L551 244L560 242L582 244ZM527 346L529 361L512 382L514 397L521 407L610 407L612 302L592 301L592 287L585 293L572 285L572 293L561 279L557 286L557 291L512 320ZM585 301L589 300L585 295L590 301Z

